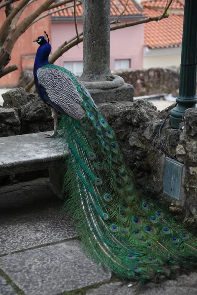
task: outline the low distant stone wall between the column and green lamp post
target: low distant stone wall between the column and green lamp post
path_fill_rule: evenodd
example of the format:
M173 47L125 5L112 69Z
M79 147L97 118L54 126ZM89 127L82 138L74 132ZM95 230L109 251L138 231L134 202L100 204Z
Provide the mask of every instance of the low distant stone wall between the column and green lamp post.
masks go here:
M174 97L178 95L176 90L179 89L180 69L176 67L129 69L116 71L114 74L121 76L126 83L134 87L134 96L171 92Z

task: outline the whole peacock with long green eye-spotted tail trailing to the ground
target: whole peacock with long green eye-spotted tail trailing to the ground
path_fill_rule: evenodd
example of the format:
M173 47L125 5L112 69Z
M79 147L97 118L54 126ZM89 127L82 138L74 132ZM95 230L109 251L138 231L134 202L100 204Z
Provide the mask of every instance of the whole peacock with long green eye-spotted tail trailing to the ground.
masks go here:
M34 42L39 44L33 68L36 91L54 118L53 134L47 136L58 134L69 147L66 206L87 252L140 284L194 269L197 238L135 183L115 132L89 91L69 70L49 63L46 32ZM62 119L57 127L58 112Z

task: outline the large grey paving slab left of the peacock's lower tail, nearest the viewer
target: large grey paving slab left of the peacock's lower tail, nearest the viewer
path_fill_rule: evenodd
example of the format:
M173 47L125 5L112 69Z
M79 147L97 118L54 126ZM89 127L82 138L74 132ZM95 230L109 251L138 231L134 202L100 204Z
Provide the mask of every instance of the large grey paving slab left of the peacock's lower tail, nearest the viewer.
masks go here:
M26 295L58 295L111 277L77 240L0 257L0 267Z

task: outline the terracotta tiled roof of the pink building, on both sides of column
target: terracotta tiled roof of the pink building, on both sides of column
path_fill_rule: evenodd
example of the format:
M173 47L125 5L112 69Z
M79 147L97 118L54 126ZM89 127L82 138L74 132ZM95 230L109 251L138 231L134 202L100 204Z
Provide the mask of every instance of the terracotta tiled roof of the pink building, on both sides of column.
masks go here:
M68 3L66 5L62 5L59 6L58 8L62 8L64 6L70 6L71 3ZM125 6L127 4L127 7L125 9ZM57 10L58 8L54 8L53 10ZM125 10L125 11L124 11ZM135 2L135 0L112 0L111 1L111 16L119 16L122 12L124 11L123 15L124 16L130 16L130 15L141 15L142 14L142 8L140 8L139 5L137 5L137 3ZM58 12L55 12L52 14L52 17L55 18L61 18L61 17L73 17L73 12L74 9L72 8L68 8L65 10L61 10ZM82 17L82 4L76 6L76 15L77 17Z

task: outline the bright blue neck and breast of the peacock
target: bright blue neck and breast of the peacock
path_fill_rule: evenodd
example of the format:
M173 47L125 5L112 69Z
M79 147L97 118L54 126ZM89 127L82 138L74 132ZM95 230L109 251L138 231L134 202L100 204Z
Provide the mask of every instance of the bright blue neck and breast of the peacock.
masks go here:
M49 54L51 52L51 45L46 41L37 49L35 56L34 66L33 66L33 77L35 80L35 87L38 86L37 80L37 70L44 64L49 63Z

